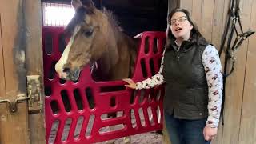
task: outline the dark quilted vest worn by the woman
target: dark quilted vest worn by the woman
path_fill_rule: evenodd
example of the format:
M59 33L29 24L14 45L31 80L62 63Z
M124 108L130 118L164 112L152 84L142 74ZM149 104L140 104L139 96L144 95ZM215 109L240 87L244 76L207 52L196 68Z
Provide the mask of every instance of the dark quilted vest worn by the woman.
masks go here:
M208 116L208 86L202 65L202 53L208 42L182 42L166 49L163 76L166 81L164 110L174 118L200 119Z

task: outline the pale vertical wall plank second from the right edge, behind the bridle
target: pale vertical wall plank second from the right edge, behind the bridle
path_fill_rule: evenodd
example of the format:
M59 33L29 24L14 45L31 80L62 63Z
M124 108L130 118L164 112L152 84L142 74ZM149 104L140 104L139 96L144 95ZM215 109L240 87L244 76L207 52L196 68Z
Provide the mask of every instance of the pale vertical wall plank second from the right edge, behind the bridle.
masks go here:
M241 1L242 27L248 30L252 1ZM244 42L236 53L234 73L226 79L226 103L224 114L223 144L237 144L239 142L240 119L242 113L242 96L246 70L246 53L248 42Z

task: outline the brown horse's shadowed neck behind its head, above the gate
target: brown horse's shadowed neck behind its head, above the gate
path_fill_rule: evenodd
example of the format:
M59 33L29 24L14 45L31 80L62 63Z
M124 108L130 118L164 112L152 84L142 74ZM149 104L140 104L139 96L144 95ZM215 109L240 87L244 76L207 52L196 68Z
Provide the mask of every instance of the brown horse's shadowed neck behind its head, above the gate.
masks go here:
M120 31L114 31L114 43L111 46L113 47L109 47L106 54L99 60L103 77L108 80L128 78L134 66L133 39ZM117 53L113 50L117 50Z

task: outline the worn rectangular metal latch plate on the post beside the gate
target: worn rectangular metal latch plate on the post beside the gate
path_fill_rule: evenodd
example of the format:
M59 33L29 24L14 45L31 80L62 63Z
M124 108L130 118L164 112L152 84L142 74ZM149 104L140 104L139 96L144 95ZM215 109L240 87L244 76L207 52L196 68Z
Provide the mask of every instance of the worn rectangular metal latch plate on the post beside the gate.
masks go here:
M42 110L42 88L40 75L28 75L26 78L29 112L30 114L36 114Z

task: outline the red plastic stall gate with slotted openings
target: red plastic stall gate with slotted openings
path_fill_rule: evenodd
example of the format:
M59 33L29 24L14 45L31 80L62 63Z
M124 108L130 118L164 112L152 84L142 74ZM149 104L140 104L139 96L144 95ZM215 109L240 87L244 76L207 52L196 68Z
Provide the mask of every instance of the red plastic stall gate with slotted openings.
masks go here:
M90 68L82 70L78 82L58 78L54 65L63 50L61 27L43 27L44 82L46 90L47 143L93 143L162 130L163 86L151 90L130 90L125 82L95 82ZM164 32L142 33L134 70L135 82L158 72L165 45ZM113 87L121 87L111 91ZM110 106L110 99L115 105ZM90 103L92 104L89 104ZM105 118L109 113L117 118ZM118 130L104 132L108 127Z

